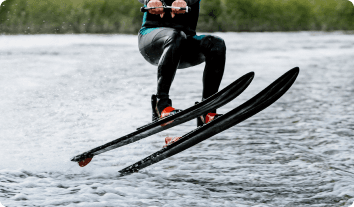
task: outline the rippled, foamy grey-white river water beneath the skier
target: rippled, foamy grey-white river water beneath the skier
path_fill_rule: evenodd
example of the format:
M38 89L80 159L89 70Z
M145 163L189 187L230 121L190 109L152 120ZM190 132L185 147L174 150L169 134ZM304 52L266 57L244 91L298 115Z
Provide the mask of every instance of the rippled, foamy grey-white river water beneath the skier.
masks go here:
M290 90L254 117L139 173L117 171L160 150L195 120L95 157L70 158L148 123L156 67L135 35L0 36L0 203L18 206L351 206L354 35L217 33L221 88L256 76L226 113L289 69ZM201 99L204 65L179 70L173 106Z

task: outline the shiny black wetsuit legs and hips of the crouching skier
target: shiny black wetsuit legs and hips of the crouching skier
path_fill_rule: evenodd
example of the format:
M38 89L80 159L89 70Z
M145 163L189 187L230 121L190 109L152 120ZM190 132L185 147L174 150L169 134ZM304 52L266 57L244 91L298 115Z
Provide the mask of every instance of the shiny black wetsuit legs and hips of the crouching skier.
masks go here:
M172 28L153 28L139 35L139 49L144 58L158 65L159 98L168 97L176 69L205 61L203 99L218 92L226 60L225 42L216 36L188 36ZM182 55L183 54L183 55Z

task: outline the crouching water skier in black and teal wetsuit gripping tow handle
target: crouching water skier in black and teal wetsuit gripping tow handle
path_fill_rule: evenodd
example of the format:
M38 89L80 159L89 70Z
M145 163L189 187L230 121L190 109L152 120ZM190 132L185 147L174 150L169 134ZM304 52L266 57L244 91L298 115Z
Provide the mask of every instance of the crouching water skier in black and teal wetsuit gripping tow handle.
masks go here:
M188 13L174 8L169 13L162 8L144 13L138 36L139 51L149 63L157 66L157 93L151 97L153 121L178 112L169 98L177 69L205 62L202 101L218 92L224 74L226 46L220 37L196 34L202 0L138 1L144 7L191 8ZM199 123L206 124L217 116L216 110L210 111L200 117ZM166 138L166 143L169 141L177 140Z

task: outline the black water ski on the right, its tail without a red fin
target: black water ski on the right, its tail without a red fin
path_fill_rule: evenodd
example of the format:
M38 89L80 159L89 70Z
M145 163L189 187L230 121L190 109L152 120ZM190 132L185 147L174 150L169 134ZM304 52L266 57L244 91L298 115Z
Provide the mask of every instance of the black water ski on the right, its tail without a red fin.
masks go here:
M180 153L238 123L252 117L278 100L295 82L299 68L282 75L247 102L197 129L185 134L178 141L119 171L119 176L129 175L154 163Z

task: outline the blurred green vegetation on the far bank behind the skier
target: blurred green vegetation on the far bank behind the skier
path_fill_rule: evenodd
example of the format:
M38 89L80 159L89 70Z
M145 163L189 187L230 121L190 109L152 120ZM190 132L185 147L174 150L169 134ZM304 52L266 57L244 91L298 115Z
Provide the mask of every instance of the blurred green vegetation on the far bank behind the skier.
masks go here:
M137 0L4 0L0 33L137 33ZM202 0L198 30L354 30L350 0Z

